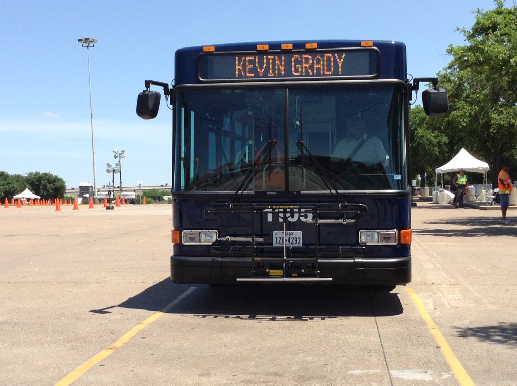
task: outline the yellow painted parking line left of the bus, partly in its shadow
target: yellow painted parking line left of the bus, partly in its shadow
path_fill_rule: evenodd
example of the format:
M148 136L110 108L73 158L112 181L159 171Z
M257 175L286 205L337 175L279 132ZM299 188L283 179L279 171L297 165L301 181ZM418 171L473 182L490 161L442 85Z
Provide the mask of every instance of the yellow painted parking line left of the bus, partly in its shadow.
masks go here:
M90 368L95 366L97 363L102 361L104 358L108 357L108 355L112 354L116 349L122 347L124 344L128 343L129 340L134 337L136 334L138 334L140 331L145 329L149 324L155 322L159 318L161 318L164 314L166 314L172 307L174 307L176 304L181 302L183 299L185 299L193 290L195 290L195 287L189 288L187 291L179 295L175 300L173 300L171 303L166 305L163 309L160 311L157 311L153 316L147 318L142 323L136 325L133 329L128 331L126 334L121 336L114 344L112 344L110 347L102 350L98 354L96 354L94 357L90 358L88 361L84 362L81 366L73 370L70 374L68 374L65 378L57 382L54 386L68 386L75 380L77 380L79 377L81 377L84 373L86 373Z

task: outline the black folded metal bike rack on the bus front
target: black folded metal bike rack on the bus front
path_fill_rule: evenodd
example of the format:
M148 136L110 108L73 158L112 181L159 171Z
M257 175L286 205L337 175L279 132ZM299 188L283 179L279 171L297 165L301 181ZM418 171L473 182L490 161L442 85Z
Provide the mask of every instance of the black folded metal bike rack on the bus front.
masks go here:
M314 240L312 246L303 248L293 246L273 246L264 243L266 233L263 230L262 216L270 214L265 210L271 207L302 208L303 213L311 214L308 224L314 224ZM250 218L250 232L221 235L210 245L211 255L227 257L250 257L252 259L251 277L238 278L238 281L314 281L331 280L320 278L318 259L322 257L357 257L364 256L366 248L360 246L322 246L320 241L320 227L322 225L354 225L356 220L366 214L368 208L360 203L307 203L307 204L257 204L257 203L220 203L206 207L208 216L217 214L248 214ZM257 220L257 214L258 220ZM221 221L223 219L221 218ZM284 219L285 225L287 220ZM257 223L260 229L256 229ZM285 231L285 228L284 228ZM268 234L267 234L268 235ZM307 254L307 249L312 254ZM283 255L283 256L282 256Z

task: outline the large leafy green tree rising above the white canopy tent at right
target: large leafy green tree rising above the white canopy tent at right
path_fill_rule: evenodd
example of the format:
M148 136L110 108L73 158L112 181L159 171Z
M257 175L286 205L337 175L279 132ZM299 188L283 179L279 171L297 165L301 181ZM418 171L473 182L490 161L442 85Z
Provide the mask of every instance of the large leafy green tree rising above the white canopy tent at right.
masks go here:
M475 11L472 29L459 29L467 45L447 48L452 61L439 78L449 92L449 144L485 160L495 184L501 162L517 157L517 6L494 3Z

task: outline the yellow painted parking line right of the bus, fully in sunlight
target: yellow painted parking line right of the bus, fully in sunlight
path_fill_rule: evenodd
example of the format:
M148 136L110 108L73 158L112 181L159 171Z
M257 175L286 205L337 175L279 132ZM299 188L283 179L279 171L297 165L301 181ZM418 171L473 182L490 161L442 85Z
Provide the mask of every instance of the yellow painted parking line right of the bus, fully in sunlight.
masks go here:
M415 306L417 307L418 313L424 320L425 324L427 324L429 332L431 332L431 335L433 335L434 340L436 340L436 343L440 347L440 350L442 351L445 360L449 364L449 367L452 370L454 377L456 377L458 382L460 382L461 386L474 385L474 383L468 376L467 372L465 371L465 368L463 368L462 364L460 363L460 361L452 351L451 347L447 343L447 340L438 329L438 326L434 323L433 319L431 318L431 315L429 315L428 311L423 306L422 301L420 300L418 295L411 288L406 288L406 292L409 294L409 296L411 296L413 302L415 302Z

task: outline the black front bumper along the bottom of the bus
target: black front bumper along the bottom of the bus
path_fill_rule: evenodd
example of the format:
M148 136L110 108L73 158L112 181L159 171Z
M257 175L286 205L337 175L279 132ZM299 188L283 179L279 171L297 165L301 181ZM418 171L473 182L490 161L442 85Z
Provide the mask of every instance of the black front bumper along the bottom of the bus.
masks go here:
M282 259L279 259L282 261ZM411 281L411 256L389 258L320 258L314 277L253 275L250 258L171 256L175 283L238 284L243 281L321 281L354 286L399 286Z

